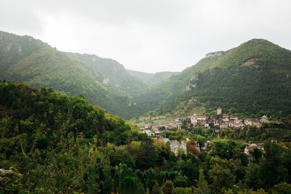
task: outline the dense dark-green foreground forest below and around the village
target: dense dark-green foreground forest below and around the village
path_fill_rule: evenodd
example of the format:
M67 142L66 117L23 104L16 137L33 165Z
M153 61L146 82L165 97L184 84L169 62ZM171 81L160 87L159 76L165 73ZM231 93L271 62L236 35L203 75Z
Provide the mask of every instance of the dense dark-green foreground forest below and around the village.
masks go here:
M175 155L82 95L5 80L0 95L0 193L291 192L291 115L281 125L219 132L185 121L165 134L188 140L187 155ZM257 162L243 152L249 140L265 141Z

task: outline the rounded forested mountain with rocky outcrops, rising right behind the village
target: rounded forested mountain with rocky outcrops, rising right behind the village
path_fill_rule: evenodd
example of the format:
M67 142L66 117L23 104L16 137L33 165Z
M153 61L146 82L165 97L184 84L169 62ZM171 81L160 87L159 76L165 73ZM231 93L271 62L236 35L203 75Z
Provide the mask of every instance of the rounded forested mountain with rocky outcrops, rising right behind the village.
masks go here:
M201 103L206 113L217 107L224 113L252 116L260 111L279 118L291 113L290 50L267 40L253 39L218 53L152 88L137 106L144 104L146 108L150 104L147 110L156 107L154 112L158 115L173 114L182 104L185 108ZM153 91L155 101L148 97Z

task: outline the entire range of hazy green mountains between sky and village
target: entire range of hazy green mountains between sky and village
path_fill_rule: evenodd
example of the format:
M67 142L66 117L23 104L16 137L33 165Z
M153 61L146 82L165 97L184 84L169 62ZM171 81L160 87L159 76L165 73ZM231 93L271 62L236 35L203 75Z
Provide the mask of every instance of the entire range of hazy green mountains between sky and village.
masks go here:
M149 111L189 115L198 107L210 114L219 106L228 114L289 115L290 75L291 51L262 39L208 54L181 72L148 74L126 70L112 59L62 52L31 36L0 31L1 80L83 95L125 119Z

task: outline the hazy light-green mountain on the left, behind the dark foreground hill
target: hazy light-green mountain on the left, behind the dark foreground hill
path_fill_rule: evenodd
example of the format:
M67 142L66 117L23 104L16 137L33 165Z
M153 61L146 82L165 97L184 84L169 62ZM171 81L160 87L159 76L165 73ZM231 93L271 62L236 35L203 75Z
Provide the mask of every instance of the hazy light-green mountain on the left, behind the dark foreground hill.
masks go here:
M107 61L111 63L113 60ZM132 81L124 76L121 80L128 85L123 86L120 82L122 88L118 89L118 81L111 84L112 77L31 36L0 32L0 62L0 77L6 81L24 81L37 89L45 86L67 95L84 95L91 104L126 119L138 113L129 95L129 88L136 87L136 82L142 86L136 88L146 88L140 80L132 77ZM118 76L120 72L117 71ZM126 70L123 72L126 73ZM134 89L130 91L138 93Z

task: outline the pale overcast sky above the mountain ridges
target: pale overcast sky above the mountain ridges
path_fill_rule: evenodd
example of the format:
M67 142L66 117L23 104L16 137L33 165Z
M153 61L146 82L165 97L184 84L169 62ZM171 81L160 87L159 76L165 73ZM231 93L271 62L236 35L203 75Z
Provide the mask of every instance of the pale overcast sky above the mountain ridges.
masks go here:
M290 0L0 0L0 7L0 31L140 72L181 72L253 38L291 49Z

